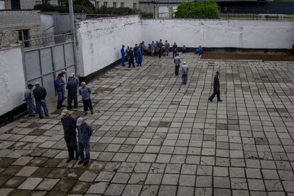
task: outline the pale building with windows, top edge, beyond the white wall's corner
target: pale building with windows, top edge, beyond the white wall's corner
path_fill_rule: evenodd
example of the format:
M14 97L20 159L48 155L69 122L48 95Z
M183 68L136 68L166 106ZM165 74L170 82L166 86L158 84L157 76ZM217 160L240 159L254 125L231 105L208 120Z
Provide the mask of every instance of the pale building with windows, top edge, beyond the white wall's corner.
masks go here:
M97 8L106 6L106 7L114 7L114 8L128 7L130 9L139 9L138 0L90 0L90 1Z

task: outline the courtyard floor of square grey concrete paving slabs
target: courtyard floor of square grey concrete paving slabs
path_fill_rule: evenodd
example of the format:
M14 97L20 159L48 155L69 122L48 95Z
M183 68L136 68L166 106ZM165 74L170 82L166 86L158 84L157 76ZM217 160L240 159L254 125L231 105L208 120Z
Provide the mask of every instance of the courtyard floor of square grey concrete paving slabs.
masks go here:
M170 57L90 84L86 167L65 163L60 111L1 127L0 195L294 195L294 63L180 56L187 85ZM207 102L217 70L224 102Z

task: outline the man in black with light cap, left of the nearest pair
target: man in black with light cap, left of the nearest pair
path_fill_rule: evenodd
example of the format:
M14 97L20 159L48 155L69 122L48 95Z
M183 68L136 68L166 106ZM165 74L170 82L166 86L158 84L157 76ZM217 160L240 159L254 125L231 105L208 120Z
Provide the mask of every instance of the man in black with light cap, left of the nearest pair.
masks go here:
M61 115L62 118L60 121L63 126L64 138L69 157L66 163L68 163L70 160L79 158L77 153L77 132L75 131L77 126L75 119L70 116L67 109L63 109Z

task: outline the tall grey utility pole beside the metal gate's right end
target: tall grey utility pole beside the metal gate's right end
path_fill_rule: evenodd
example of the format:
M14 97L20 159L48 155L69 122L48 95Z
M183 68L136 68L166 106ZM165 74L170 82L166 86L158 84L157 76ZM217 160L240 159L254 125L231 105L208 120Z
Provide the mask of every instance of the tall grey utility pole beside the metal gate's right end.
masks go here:
M80 76L79 63L77 62L77 40L75 37L75 15L73 11L72 0L68 0L68 10L70 12L70 27L72 30L72 38L73 38L73 52L74 52L74 60L75 60L75 75Z

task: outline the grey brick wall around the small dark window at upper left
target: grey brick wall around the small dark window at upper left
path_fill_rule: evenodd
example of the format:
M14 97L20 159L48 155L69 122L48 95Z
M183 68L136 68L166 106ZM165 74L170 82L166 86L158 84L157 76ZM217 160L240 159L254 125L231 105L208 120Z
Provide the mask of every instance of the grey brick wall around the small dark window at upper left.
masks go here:
M18 31L28 29L30 37L41 32L39 11L0 11L0 47L16 43Z

